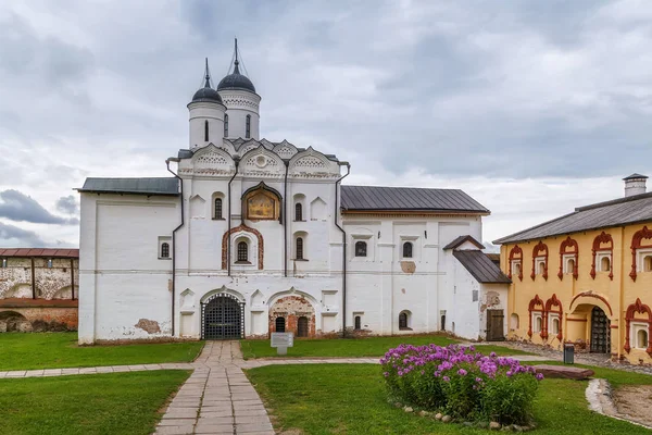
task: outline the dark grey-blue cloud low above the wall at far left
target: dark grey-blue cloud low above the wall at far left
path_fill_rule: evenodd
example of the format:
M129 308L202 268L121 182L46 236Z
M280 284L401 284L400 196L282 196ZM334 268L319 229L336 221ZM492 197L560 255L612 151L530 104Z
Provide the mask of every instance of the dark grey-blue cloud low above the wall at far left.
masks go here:
M47 211L38 201L18 190L0 191L0 217L37 224L77 225L77 217L60 217Z

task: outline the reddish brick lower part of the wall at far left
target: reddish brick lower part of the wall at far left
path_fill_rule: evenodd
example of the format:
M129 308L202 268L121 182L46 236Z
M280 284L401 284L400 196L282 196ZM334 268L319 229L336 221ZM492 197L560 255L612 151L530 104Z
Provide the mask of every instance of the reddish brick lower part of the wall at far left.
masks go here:
M77 331L77 300L0 299L0 333Z

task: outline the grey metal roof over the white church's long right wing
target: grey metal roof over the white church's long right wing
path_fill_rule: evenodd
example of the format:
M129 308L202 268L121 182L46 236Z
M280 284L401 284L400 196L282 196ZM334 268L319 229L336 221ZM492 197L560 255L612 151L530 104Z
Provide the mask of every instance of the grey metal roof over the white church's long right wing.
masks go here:
M486 213L490 211L459 189L342 186L342 210L410 210Z

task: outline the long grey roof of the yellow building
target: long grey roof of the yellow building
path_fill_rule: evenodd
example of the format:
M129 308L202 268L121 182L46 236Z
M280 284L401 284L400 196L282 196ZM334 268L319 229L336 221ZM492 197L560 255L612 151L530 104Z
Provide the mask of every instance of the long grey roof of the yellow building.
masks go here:
M513 244L650 221L652 221L652 192L579 207L573 213L499 238L493 243Z

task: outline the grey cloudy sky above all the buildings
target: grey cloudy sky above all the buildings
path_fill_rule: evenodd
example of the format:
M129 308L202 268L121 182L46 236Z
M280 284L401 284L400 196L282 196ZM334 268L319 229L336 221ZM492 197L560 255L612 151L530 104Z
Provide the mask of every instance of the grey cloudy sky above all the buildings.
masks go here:
M652 175L652 2L0 2L0 246L77 246L87 176L166 176L239 39L261 136L462 188L485 240Z

